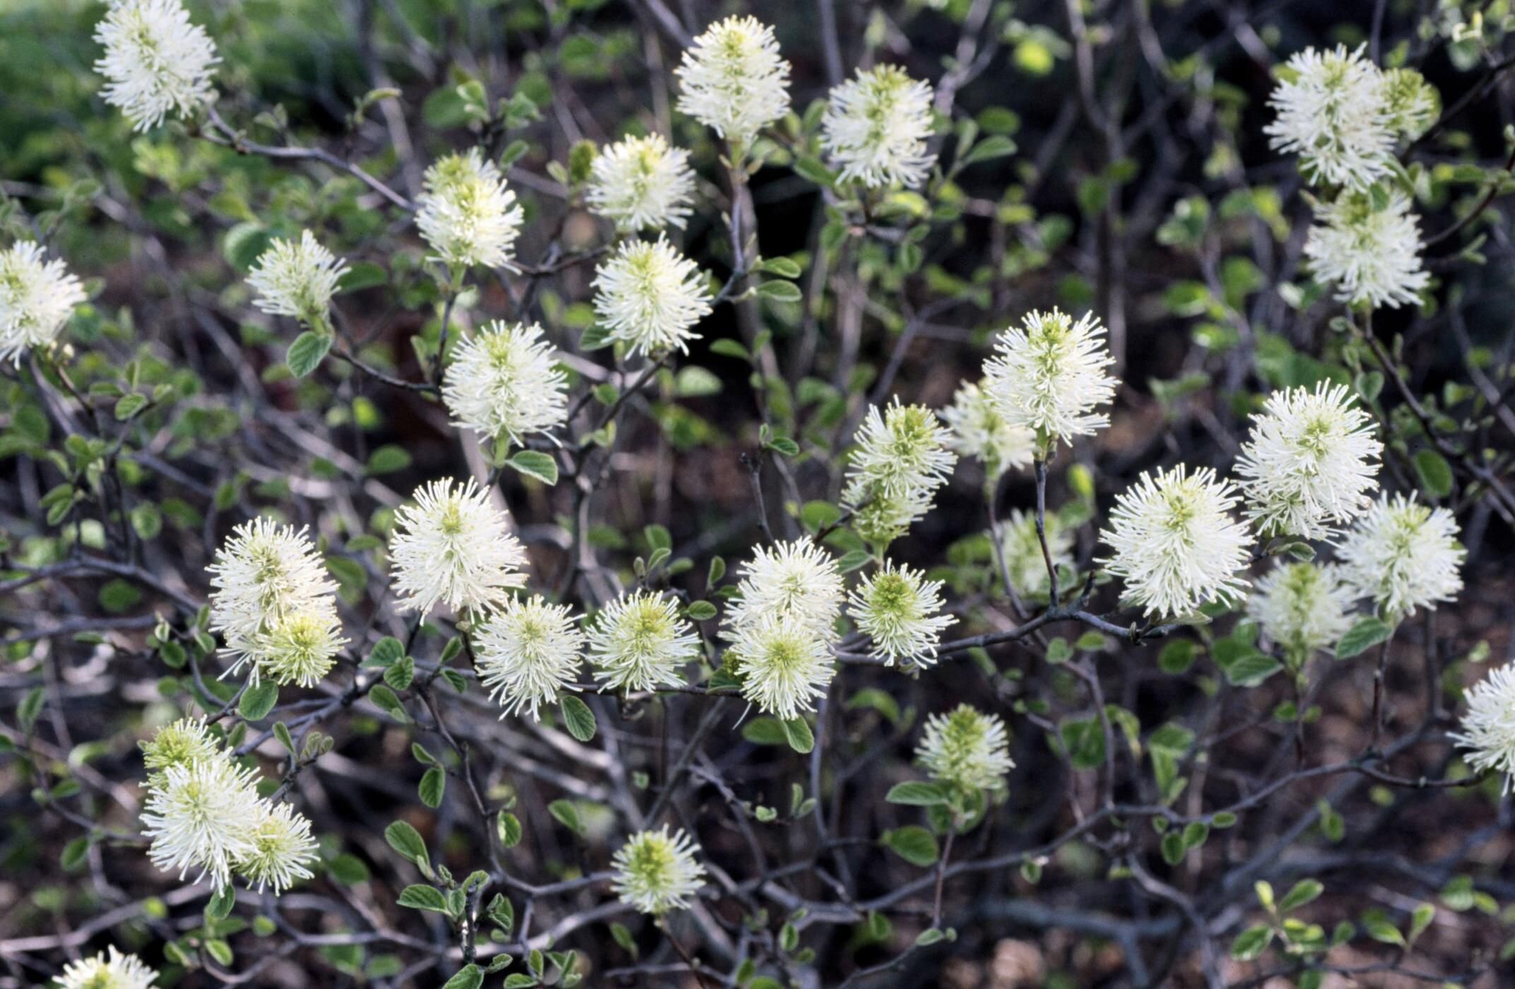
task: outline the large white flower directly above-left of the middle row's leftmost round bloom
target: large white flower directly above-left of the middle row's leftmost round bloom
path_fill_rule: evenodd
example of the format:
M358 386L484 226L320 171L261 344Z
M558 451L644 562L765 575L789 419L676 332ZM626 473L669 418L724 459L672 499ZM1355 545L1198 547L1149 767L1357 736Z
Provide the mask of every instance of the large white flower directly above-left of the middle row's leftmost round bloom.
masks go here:
M405 610L488 609L526 583L526 548L511 533L511 516L489 503L474 479L442 479L415 491L415 504L394 513L389 541L394 589Z

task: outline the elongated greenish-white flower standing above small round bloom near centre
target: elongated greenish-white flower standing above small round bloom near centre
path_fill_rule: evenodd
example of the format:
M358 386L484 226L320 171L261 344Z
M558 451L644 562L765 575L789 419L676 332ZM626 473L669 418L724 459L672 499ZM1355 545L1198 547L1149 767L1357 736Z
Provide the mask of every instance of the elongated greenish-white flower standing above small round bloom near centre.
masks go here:
M857 430L857 447L847 460L842 506L853 513L853 529L864 539L888 544L932 507L936 489L947 483L957 454L951 435L926 406L894 403L868 417Z

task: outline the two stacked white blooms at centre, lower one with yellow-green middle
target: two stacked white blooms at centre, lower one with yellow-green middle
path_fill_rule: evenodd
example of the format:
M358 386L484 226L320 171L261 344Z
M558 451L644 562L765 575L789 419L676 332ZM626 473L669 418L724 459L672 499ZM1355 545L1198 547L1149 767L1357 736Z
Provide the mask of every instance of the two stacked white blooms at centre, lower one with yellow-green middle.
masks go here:
M721 636L742 697L783 719L812 710L836 675L836 560L809 538L758 547L736 589Z

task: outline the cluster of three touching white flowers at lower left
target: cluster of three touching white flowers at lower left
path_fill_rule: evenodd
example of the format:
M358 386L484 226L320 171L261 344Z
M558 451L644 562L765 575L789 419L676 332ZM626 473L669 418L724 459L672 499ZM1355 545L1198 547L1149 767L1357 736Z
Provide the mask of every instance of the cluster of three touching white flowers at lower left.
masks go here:
M239 768L203 719L183 718L142 742L148 769L144 833L148 859L183 878L200 869L217 889L241 875L277 895L317 859L311 821L289 804L258 797L258 772ZM198 881L198 880L197 880Z

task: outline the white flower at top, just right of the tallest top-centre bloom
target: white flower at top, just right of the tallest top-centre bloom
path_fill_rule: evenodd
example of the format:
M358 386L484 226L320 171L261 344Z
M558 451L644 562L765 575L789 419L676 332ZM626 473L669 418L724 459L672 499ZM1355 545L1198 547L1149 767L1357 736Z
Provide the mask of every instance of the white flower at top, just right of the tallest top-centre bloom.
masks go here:
M932 135L932 86L895 65L877 65L833 86L821 118L821 147L841 167L842 182L865 186L926 182L936 156Z

